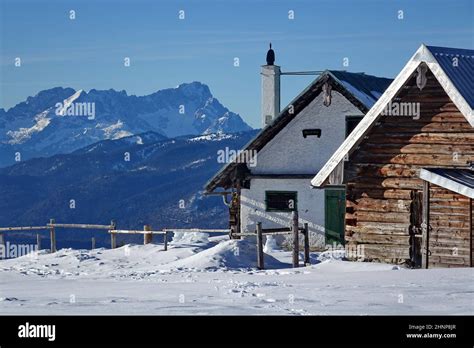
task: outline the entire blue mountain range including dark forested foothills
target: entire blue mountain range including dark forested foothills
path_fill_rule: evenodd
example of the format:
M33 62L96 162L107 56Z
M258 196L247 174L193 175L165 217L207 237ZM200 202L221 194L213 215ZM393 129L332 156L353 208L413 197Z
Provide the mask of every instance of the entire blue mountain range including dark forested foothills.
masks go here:
M255 134L200 82L143 97L42 91L0 109L0 226L44 225L54 218L113 219L125 229L225 228L226 206L220 197L204 197L203 185L223 165L219 150L238 150ZM98 243L108 239L103 232L64 230L58 246L62 240L68 241L62 246L90 242L91 235Z

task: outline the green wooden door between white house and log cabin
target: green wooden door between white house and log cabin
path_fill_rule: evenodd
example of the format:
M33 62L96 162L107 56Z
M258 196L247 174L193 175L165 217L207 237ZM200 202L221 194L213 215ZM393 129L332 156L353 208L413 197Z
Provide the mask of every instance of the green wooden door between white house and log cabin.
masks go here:
M326 244L344 245L344 216L346 213L345 188L327 188L325 191Z

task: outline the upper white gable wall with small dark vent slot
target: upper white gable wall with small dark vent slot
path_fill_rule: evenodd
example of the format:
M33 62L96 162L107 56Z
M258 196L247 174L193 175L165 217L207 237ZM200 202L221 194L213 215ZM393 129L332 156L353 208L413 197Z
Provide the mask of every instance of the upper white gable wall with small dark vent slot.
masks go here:
M363 114L339 92L332 92L329 107L320 94L260 150L251 172L316 175L344 141L347 115ZM321 129L321 137L303 138L302 130L311 128Z

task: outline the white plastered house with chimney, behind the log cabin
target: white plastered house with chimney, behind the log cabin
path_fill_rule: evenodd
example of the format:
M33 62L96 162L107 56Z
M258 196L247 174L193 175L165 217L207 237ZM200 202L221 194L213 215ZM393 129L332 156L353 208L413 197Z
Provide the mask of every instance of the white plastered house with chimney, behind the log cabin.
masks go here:
M280 86L276 76L284 73L268 63L262 67L263 129L242 149L255 161L252 165L236 158L225 164L206 184L206 193L227 196L232 233L254 232L257 222L264 228L288 227L292 211L298 210L314 244L339 241L339 235L325 236L325 231L343 226L344 191L308 190L310 181L392 80L327 70L276 112ZM326 219L325 212L335 209L340 214Z

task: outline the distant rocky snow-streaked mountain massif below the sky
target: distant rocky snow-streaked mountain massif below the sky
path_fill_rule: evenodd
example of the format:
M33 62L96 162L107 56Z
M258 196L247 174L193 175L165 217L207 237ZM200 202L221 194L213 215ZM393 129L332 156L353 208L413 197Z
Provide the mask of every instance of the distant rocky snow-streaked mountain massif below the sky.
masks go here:
M147 96L56 87L0 109L0 166L70 153L104 139L155 132L164 137L250 130L200 82ZM18 160L17 160L18 161Z

